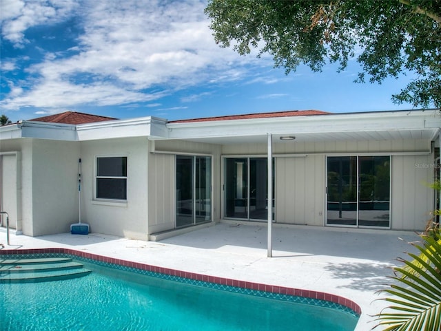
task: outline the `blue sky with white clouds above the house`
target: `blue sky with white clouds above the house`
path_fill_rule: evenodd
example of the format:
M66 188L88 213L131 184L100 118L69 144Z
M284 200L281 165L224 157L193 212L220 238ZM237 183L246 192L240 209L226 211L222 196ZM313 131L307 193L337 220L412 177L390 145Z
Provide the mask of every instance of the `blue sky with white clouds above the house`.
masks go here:
M239 56L214 43L198 0L1 0L0 114L13 122L62 111L169 120L396 105L411 74L382 85L300 66L285 75L269 56Z

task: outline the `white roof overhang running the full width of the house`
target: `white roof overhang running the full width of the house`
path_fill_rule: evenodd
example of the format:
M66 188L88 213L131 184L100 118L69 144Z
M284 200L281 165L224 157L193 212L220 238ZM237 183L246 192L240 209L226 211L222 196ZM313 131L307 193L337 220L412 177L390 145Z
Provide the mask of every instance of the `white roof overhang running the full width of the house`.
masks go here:
M20 121L0 127L0 139L85 141L146 137L150 140L191 140L227 145L266 143L267 134L271 134L275 141L283 136L292 136L295 142L433 141L439 136L440 128L441 112L438 109L196 122L167 122L163 118L149 116L82 125Z

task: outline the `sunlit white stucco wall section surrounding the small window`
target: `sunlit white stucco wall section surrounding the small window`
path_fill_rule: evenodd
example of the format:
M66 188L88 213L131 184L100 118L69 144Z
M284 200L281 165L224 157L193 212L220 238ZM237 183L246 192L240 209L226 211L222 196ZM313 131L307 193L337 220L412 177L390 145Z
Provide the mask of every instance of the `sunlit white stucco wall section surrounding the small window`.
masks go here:
M95 195L96 157L127 156L127 202L97 200ZM95 233L133 239L147 236L147 138L119 138L81 142L83 189L82 220Z

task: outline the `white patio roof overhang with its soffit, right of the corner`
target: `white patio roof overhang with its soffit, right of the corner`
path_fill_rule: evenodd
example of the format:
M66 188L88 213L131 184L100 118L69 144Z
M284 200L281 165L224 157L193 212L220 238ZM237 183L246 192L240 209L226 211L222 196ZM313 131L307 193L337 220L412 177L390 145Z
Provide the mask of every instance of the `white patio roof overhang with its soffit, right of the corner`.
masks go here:
M327 114L252 120L169 123L167 139L220 145L264 143L293 136L298 141L434 140L440 131L439 110Z

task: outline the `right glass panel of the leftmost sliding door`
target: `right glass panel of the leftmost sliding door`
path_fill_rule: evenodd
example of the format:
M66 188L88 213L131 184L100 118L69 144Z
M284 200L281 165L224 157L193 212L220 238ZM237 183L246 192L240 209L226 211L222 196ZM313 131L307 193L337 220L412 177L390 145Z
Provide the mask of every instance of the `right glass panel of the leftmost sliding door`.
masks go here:
M195 222L207 222L212 218L212 159L196 157Z

